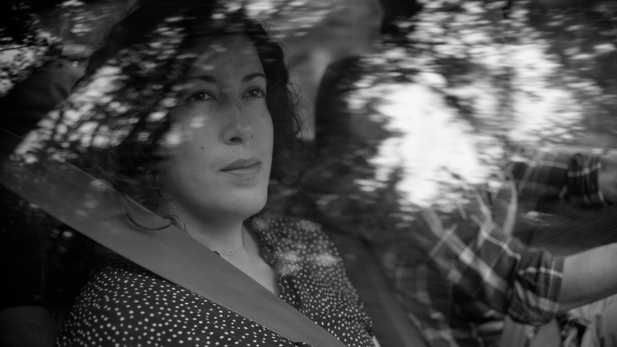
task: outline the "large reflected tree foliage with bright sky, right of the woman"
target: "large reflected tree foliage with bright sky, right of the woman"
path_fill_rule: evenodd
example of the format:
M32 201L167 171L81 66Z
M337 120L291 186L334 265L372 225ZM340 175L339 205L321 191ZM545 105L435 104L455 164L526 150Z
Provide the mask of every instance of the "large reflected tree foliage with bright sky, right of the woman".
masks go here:
M508 191L523 148L615 143L615 74L600 73L617 61L613 2L420 3L379 54L331 67L323 95L344 102L318 105L298 204L376 241L408 232L426 206L482 217L476 192Z

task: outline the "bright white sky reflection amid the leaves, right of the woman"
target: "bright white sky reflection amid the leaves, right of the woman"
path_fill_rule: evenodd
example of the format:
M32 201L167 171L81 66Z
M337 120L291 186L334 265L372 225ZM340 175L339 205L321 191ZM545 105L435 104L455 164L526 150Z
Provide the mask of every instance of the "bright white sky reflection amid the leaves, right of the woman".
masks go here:
M416 83L384 88L383 104L377 110L387 120L385 128L400 136L381 142L378 154L371 158L376 181L387 181L389 174L400 168L397 189L404 197L402 203L447 204L458 198L452 187L499 176L495 174L500 170L497 160L502 158L503 145L498 136L536 145L567 139L568 129L583 118L584 106L574 89L563 83L561 65L545 54L544 48L541 44L495 47L486 60L476 60L482 68L456 88L445 87L435 73L420 73ZM513 71L506 111L499 104L503 90L495 88L492 75L504 63ZM458 110L445 104L436 89L470 100L473 117L481 121L472 126Z

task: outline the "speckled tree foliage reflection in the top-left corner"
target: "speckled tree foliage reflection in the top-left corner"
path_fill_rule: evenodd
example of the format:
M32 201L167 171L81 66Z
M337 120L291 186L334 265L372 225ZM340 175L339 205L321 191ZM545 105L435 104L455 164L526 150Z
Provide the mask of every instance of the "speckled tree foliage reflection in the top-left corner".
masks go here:
M0 97L27 78L33 68L54 56L67 54L63 46L98 44L101 30L118 19L127 3L10 0L1 6Z

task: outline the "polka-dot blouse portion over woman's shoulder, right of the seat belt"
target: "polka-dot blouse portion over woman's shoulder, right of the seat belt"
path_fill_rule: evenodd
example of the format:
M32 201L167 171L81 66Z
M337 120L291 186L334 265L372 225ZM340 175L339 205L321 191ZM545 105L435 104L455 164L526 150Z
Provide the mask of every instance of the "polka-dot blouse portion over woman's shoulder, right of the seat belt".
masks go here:
M262 239L264 258L283 276L288 302L301 303L299 310L326 329L336 327L336 333L331 332L344 342L360 345L359 339L364 339L370 343L366 332L371 330L371 320L320 224L272 214L255 217L251 224Z

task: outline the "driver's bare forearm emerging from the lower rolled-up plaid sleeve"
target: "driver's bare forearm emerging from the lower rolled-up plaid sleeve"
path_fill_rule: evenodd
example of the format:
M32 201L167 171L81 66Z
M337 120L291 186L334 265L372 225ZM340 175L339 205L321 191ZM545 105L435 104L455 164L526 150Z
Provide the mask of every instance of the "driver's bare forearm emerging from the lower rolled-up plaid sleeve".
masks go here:
M617 293L617 243L565 258L559 311L565 312Z

